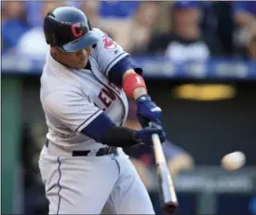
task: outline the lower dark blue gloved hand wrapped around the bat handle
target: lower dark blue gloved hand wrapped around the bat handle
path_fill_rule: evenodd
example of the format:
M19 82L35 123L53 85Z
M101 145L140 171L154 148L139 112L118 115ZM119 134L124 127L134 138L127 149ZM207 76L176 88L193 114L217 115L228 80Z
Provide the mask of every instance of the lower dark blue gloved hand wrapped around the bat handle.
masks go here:
M136 141L143 142L148 145L153 145L152 135L158 134L160 141L166 141L166 132L159 125L152 124L151 127L142 128L135 132Z

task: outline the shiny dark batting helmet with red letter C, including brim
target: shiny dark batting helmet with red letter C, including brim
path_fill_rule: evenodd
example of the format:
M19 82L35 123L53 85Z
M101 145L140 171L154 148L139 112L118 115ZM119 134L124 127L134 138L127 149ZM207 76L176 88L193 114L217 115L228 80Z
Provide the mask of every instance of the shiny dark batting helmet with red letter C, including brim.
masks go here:
M44 20L47 44L65 52L75 52L96 44L100 36L93 32L87 16L75 7L57 7Z

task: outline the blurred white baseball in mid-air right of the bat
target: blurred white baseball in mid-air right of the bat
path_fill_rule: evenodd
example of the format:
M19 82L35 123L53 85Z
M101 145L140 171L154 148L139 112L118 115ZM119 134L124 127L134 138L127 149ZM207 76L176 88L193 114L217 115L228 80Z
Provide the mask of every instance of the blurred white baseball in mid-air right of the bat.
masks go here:
M234 152L222 157L222 168L233 171L242 168L246 163L246 156L242 152Z

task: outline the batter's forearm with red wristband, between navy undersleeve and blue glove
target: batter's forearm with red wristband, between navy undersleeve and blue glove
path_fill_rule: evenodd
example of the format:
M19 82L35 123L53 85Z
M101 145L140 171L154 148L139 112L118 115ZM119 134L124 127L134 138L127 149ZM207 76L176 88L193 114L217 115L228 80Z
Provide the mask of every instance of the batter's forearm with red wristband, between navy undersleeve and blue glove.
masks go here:
M132 69L123 75L123 88L128 98L132 100L137 100L141 95L147 94L143 78Z

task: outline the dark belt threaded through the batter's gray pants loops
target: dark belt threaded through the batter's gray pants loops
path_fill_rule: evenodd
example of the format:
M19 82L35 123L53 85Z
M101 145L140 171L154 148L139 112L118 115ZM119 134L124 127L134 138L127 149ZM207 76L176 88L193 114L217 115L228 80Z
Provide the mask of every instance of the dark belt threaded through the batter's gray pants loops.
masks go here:
M47 148L48 148L48 144L49 144L49 142L46 141ZM72 156L88 156L90 152L91 152L90 150L73 151ZM112 155L112 154L116 154L116 152L117 152L116 147L107 146L107 147L99 149L98 152L95 154L95 156Z

